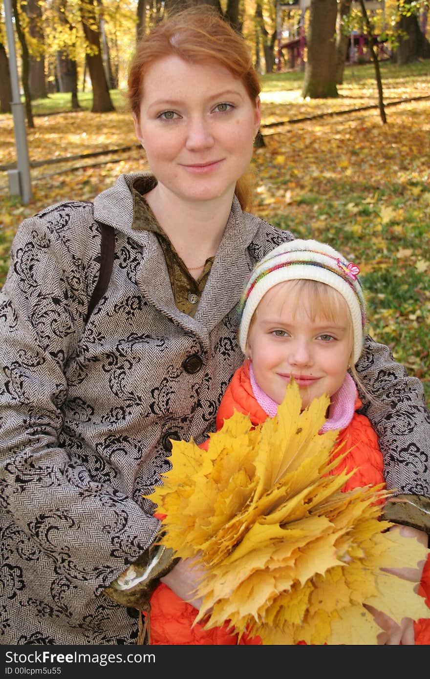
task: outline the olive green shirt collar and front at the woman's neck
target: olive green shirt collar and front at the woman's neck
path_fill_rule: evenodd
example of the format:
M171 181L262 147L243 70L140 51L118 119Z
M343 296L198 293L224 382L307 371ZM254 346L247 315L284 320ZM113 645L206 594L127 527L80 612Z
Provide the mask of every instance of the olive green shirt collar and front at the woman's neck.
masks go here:
M202 273L195 280L145 200L145 194L154 189L156 184L157 180L155 177L139 177L139 179L135 179L132 183L132 228L152 231L156 234L164 253L164 259L166 259L175 304L179 311L188 314L188 316L194 316L198 301L209 278L214 257L209 257L205 261Z

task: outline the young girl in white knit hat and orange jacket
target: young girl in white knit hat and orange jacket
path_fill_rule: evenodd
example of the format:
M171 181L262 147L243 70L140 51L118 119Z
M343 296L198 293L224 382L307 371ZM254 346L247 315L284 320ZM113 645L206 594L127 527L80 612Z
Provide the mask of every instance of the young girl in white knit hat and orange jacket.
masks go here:
M357 412L361 401L350 374L358 381L354 365L363 349L365 327L358 274L354 263L315 240L292 240L264 257L243 295L239 342L245 362L234 373L217 414L217 429L234 411L249 415L255 426L262 424L275 416L290 380L299 386L302 409L327 394L330 405L321 433L339 430L336 447L344 445L337 454L349 450L332 473L355 470L344 491L384 482L378 437L368 418ZM425 534L408 530L427 544ZM166 576L151 599L151 643L237 642L227 625L207 631L200 624L192 627L196 609L181 601L168 582ZM421 593L429 598L429 561L421 584ZM380 612L374 615L385 629L381 642L414 643L415 638L416 644L430 643L430 620L418 621L414 629L412 621L405 620L397 629Z

